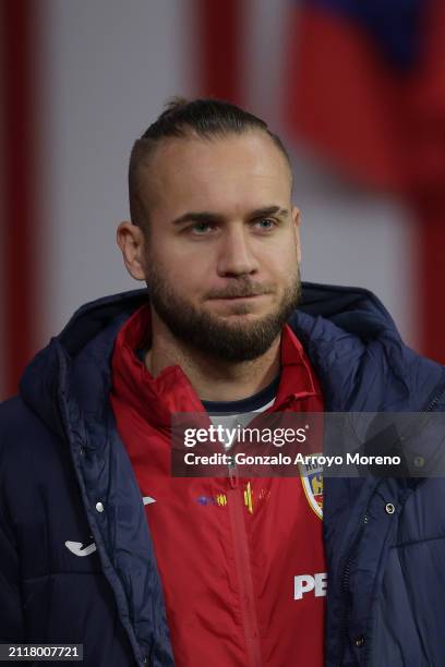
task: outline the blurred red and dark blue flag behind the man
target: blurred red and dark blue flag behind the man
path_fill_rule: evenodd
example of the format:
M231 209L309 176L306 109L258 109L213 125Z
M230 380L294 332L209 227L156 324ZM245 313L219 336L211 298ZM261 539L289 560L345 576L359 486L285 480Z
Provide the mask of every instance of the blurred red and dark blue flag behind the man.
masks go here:
M444 362L445 3L305 0L293 11L289 130L348 178L412 207L420 338Z

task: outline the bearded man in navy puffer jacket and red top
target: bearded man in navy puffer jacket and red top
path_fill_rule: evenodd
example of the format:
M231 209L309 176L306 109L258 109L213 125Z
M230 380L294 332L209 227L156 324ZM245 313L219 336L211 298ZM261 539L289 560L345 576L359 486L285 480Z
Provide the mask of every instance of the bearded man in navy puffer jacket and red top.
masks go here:
M443 411L443 368L368 291L300 283L289 159L256 117L176 101L129 183L118 242L148 295L83 306L0 412L1 641L92 666L445 664L441 480L326 480L322 522L320 485L169 468L176 413Z

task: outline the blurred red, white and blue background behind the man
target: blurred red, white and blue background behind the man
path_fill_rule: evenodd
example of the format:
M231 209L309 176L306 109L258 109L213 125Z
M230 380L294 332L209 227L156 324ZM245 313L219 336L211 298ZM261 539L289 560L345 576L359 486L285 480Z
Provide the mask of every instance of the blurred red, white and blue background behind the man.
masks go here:
M115 242L133 141L173 95L263 117L303 279L362 286L445 361L445 3L1 0L0 398L73 311L141 287Z

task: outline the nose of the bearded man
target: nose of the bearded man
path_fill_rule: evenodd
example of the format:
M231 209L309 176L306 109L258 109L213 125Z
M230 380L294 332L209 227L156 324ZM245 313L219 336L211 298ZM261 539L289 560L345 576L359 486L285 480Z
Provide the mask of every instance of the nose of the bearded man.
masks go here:
M253 253L252 239L244 226L226 229L218 250L217 271L219 276L251 275L260 268Z

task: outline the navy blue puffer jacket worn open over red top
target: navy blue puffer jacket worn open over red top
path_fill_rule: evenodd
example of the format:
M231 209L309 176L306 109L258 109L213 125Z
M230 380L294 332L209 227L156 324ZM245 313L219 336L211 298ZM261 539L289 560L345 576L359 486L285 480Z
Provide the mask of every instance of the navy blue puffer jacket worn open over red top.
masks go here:
M146 299L141 290L80 308L0 407L0 642L83 643L88 667L173 665L108 400L116 336ZM305 283L289 324L327 411L444 411L443 367L402 344L366 290ZM445 666L445 482L326 478L324 494L326 666ZM82 558L67 541L96 550Z

